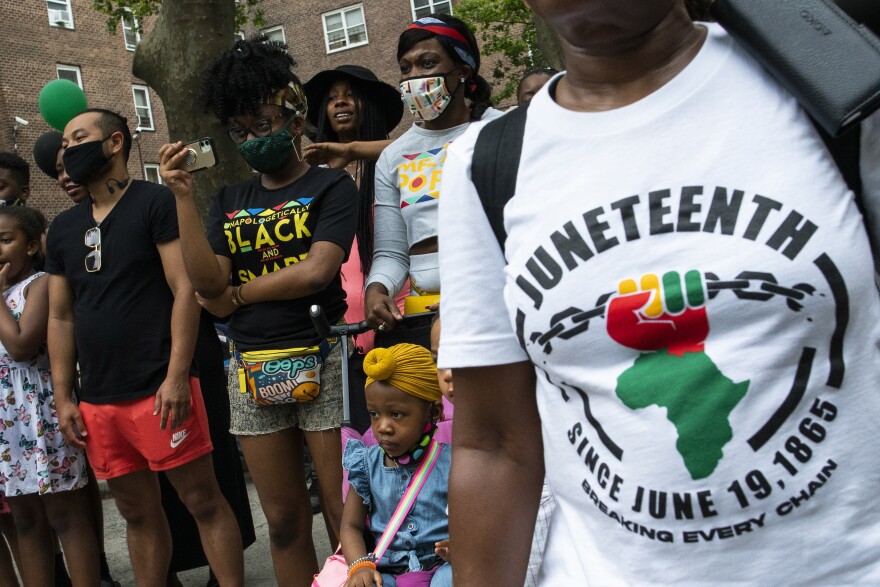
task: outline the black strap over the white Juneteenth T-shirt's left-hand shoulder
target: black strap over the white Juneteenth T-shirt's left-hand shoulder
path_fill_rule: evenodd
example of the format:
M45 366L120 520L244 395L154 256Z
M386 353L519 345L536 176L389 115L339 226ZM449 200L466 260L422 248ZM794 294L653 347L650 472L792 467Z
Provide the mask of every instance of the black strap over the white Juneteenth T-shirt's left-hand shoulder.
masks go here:
M527 109L528 104L520 106L483 127L471 162L471 181L502 251L507 240L504 205L516 190Z

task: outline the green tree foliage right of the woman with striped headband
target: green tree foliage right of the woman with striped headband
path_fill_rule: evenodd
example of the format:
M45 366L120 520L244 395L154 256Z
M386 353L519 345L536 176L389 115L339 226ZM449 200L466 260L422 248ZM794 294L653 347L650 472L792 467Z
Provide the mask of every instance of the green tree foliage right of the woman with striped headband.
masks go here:
M522 0L462 0L455 15L473 28L480 53L497 57L490 80L500 88L493 94L496 102L516 95L525 72L551 67L538 43L534 15Z

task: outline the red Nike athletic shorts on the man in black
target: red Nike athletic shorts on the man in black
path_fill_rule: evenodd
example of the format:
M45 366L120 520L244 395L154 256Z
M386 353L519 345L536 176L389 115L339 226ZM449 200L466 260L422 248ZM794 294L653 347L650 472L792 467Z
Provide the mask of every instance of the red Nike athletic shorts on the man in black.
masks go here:
M210 453L211 435L199 380L189 379L190 417L172 430L159 428L153 415L155 395L114 404L79 405L86 437L86 455L98 479L113 479L149 467L165 471Z

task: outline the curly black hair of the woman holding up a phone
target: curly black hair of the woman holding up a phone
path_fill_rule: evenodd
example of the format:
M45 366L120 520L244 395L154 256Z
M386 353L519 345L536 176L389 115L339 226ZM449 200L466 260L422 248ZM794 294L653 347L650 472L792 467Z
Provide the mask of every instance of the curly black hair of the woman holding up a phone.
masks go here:
M293 73L296 62L287 45L263 33L239 40L205 69L198 104L221 123L255 111L263 98L290 82L302 85Z

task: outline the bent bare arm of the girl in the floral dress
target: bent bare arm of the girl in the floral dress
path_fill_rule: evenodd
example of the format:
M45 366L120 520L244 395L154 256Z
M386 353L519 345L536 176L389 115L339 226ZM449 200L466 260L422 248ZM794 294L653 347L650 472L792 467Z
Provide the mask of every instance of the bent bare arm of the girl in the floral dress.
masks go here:
M9 264L0 269L0 290L6 289ZM49 280L38 277L28 284L27 304L16 320L6 304L0 310L0 341L13 361L27 361L34 357L46 340L49 324Z

